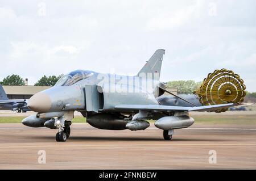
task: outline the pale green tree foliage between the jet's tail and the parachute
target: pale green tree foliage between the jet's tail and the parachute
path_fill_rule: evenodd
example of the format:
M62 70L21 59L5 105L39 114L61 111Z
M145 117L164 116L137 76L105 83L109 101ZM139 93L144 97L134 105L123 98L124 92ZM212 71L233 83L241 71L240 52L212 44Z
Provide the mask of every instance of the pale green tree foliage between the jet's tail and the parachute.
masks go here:
M170 81L167 87L177 88L179 94L193 94L193 91L199 89L201 82L189 81Z

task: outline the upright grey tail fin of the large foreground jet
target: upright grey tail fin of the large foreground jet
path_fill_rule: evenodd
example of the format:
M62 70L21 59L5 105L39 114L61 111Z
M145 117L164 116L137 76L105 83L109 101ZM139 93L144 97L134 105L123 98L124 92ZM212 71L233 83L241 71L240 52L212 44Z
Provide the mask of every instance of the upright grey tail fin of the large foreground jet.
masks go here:
M145 73L145 74L152 73L153 75L155 73L158 73L158 79L159 79L164 54L165 54L165 50L163 49L156 50L155 53L150 58L150 60L148 60L147 63L143 66L143 68L139 71L137 76L139 76L141 73Z

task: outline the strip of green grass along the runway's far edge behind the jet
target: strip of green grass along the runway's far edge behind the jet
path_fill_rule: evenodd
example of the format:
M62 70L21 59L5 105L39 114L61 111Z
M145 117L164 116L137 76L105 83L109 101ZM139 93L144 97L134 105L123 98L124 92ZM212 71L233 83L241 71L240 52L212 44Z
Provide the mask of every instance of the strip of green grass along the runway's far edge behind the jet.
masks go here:
M256 115L194 115L195 123L201 124L256 124ZM0 123L21 123L25 117L0 117ZM86 123L85 117L75 116L73 123ZM153 120L148 120L154 123Z

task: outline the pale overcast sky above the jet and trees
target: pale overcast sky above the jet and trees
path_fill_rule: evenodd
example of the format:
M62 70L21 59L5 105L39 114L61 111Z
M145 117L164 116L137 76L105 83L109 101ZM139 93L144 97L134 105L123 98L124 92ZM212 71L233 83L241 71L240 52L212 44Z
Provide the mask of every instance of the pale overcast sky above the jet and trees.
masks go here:
M231 69L256 91L256 1L0 0L0 79L75 69L136 74L166 49L161 81Z

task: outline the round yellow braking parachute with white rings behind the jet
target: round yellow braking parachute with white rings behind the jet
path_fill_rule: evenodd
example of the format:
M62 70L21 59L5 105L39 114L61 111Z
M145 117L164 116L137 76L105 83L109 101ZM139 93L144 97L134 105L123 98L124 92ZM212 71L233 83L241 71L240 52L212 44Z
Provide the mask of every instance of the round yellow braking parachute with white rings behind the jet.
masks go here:
M246 95L243 79L232 70L215 70L204 79L195 94L204 106L225 103L241 103ZM228 109L217 110L224 112Z

